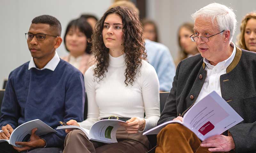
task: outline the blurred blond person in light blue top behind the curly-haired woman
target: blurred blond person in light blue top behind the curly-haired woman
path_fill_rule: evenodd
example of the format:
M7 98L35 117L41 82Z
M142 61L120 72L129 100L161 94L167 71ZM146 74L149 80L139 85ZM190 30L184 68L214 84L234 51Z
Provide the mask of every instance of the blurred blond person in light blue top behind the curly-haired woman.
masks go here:
M109 8L123 6L134 12L139 17L139 9L130 1L117 1ZM143 33L144 35L144 33ZM144 36L145 37L145 36ZM164 44L144 39L145 49L147 51L147 61L151 64L157 73L160 91L170 91L172 88L173 77L175 76L175 64L172 55Z

